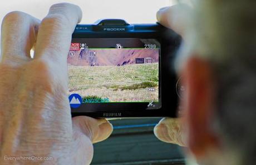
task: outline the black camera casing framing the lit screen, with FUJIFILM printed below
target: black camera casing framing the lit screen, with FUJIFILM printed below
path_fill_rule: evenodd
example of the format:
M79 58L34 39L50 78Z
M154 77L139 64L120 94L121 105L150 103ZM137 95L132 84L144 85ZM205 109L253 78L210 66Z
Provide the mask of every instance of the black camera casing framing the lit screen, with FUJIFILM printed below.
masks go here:
M160 25L159 25L160 26ZM159 92L161 108L147 109L149 103L93 103L72 109L72 116L91 117L176 117L178 95L176 94L176 74L173 61L180 45L180 36L173 30L161 27L147 32L74 32L72 38L139 38L156 39L160 45ZM170 67L171 66L171 67ZM86 108L86 112L85 109Z

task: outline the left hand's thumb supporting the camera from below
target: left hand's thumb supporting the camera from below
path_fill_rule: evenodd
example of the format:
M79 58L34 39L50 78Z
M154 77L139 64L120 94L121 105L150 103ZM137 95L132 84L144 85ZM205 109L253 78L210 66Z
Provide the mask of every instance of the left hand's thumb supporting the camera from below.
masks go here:
M111 123L106 119L77 116L72 118L72 123L73 129L90 138L92 143L106 140L113 131Z

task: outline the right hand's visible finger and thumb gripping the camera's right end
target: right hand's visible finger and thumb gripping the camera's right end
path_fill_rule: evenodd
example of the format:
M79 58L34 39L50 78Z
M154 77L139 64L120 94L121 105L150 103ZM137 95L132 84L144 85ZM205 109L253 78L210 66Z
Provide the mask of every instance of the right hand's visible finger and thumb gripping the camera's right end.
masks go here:
M189 27L191 8L186 4L178 4L172 7L160 9L157 21L167 28L173 29L186 40L186 28ZM154 128L154 133L159 140L186 146L184 143L184 127L182 118L163 118Z

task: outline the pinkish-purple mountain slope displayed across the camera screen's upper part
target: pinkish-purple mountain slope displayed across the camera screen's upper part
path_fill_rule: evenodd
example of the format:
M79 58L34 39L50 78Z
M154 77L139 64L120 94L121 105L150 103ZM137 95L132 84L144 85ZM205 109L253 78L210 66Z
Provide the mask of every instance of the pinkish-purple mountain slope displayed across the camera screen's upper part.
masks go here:
M135 64L136 58L159 61L159 49L83 49L73 53L75 55L68 55L67 61L74 66L122 66Z

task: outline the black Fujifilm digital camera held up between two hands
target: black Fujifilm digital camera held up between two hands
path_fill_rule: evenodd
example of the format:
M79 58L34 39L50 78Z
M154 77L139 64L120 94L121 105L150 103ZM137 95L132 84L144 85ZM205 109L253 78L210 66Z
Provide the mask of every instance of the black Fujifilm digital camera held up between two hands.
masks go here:
M160 24L78 24L68 54L72 116L176 117L181 37Z

